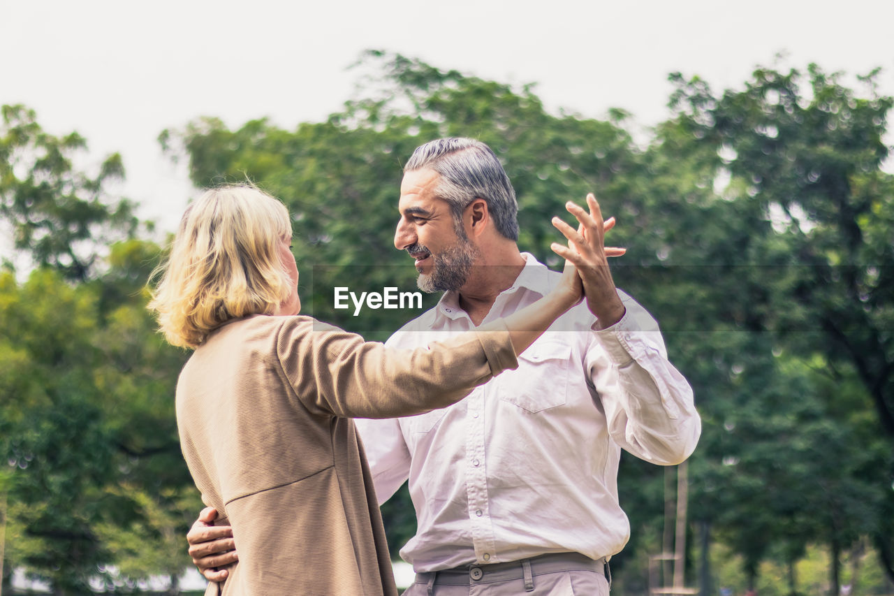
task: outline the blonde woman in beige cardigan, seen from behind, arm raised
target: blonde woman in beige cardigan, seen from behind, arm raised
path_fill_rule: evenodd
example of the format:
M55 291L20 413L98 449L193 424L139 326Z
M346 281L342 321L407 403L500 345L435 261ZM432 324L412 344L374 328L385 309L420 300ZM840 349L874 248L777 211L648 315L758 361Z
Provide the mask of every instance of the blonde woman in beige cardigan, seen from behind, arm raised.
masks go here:
M195 350L177 424L203 500L239 543L223 594L396 594L350 418L428 412L514 368L578 302L578 276L567 268L556 291L508 319L393 351L299 316L290 241L278 200L209 190L183 215L149 304L167 340Z

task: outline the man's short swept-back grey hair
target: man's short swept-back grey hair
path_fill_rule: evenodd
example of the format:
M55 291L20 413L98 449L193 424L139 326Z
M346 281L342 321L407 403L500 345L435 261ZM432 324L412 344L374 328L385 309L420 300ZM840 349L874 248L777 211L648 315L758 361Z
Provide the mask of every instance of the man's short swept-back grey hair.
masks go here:
M424 167L441 175L434 192L450 203L454 222L461 221L462 211L470 202L484 199L497 232L519 240L515 190L500 160L485 143L462 138L431 140L413 151L403 171Z

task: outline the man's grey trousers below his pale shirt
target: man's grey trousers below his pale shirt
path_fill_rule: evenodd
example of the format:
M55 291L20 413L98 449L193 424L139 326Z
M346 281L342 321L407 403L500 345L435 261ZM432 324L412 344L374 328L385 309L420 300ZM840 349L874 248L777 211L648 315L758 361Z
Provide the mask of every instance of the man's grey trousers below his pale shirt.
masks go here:
M404 596L608 596L605 559L562 552L416 575Z

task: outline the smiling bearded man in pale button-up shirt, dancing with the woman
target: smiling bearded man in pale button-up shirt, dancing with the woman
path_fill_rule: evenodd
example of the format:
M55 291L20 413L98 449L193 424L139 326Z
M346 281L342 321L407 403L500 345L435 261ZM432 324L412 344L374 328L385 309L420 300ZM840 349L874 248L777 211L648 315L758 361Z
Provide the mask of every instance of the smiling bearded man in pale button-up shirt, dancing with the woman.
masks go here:
M379 502L409 480L417 514L416 536L401 549L417 572L409 596L607 594L603 564L629 535L617 494L620 449L671 465L696 447L692 390L668 362L654 319L615 288L607 257L623 250L603 246L614 220L603 222L592 195L587 203L589 213L568 207L594 263L578 268L586 304L519 356L517 370L443 410L358 421ZM483 143L417 148L399 209L395 247L416 260L420 288L445 294L388 345L426 345L506 316L560 275L519 251L515 192ZM204 525L190 532L198 566L234 560L202 560L232 549L200 544L226 532Z

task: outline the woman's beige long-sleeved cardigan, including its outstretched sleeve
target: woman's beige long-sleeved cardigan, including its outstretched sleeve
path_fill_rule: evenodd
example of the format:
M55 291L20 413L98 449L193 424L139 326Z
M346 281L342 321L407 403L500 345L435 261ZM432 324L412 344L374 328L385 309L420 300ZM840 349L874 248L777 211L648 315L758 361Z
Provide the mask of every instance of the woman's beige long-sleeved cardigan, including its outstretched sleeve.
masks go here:
M350 418L443 407L517 364L506 333L398 351L302 316L217 329L177 382L183 456L239 550L207 593L396 594Z

